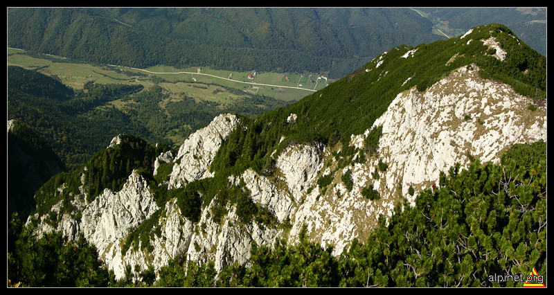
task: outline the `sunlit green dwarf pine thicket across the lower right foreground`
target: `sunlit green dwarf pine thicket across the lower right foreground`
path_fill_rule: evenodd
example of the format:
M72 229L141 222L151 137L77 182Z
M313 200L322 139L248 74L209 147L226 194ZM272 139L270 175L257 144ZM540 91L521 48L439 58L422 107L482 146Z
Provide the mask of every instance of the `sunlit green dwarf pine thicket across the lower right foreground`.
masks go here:
M222 286L497 287L497 274L546 274L546 154L543 142L515 145L506 165L453 166L441 186L405 203L364 244L338 258L303 233L296 246L253 248L250 268L224 269ZM521 159L518 154L537 157ZM546 150L545 150L546 151ZM387 225L388 224L388 225ZM531 247L532 245L532 247ZM310 251L303 251L310 249ZM298 264L298 262L303 262Z

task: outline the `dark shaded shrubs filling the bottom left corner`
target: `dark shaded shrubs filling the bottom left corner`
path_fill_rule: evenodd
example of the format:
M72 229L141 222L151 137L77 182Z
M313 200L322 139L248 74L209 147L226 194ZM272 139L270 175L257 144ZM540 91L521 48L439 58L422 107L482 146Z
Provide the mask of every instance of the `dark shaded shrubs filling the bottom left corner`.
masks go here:
M33 229L35 223L23 226L17 217L10 222L8 285L107 287L115 283L114 272L108 271L96 247L82 235L75 242L67 241L62 233L46 233L37 239Z

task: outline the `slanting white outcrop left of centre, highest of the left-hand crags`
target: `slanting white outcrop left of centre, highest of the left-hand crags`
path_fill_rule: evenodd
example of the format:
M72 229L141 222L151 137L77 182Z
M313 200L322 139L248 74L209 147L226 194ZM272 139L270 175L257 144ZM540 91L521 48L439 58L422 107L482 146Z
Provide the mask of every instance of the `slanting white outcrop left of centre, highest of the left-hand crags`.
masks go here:
M238 126L238 117L221 114L212 122L191 134L179 148L169 187L180 188L190 181L213 177L210 164L224 139Z

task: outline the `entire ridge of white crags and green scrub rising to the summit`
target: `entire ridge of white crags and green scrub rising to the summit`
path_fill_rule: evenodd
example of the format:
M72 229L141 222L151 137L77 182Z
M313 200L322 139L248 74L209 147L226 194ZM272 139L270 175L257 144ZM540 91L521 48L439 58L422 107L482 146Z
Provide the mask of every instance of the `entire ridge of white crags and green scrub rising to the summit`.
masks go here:
M499 49L485 44L489 37L501 46L518 44L521 51L497 54ZM423 60L434 69L415 71L428 65ZM107 244L96 244L106 249L100 256L117 278L125 276L125 265L161 271L170 260L185 257L214 262L217 273L235 262L249 267L251 250L280 239L295 245L308 238L340 256L391 220L403 203L413 207L416 196L443 186L444 172L454 163L471 170L475 160L498 162L511 145L546 141L546 60L540 60L505 26L479 26L443 42L392 48L312 96L259 118L220 115L178 153L163 150L163 161L154 160L161 151L145 158L147 165L139 164L125 178L125 191L102 188L96 197L118 204L127 191L145 188L133 184L148 184L149 193L139 195L157 204L158 213L149 215L155 218L136 226L134 218L110 205L95 211L105 222L95 223L85 238L105 233L101 224L113 225L112 213L127 220L118 222L121 231ZM99 157L120 142L114 140ZM200 157L205 154L210 156ZM80 210L94 205L85 201L84 169L71 178L75 181L62 192L72 190L68 195L74 199L66 205L80 209L64 212L55 227L79 232L88 224L78 217ZM62 201L50 204L55 214L62 213ZM33 218L44 224L47 215L37 214L29 223Z

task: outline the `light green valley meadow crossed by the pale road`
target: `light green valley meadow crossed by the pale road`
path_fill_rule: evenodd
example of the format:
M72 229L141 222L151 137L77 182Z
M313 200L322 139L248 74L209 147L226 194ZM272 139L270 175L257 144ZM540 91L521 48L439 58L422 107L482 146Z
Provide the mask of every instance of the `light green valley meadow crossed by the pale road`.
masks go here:
M148 69L132 69L125 66L69 62L53 55L47 55L48 58L42 57L33 57L25 51L8 48L8 65L35 69L56 77L73 89L83 89L84 84L90 81L98 84L142 84L145 89L159 84L172 96L188 93L200 100L218 101L236 97L224 88L217 89L217 85L220 85L292 102L323 89L331 82L318 79L318 73L237 72L208 67L177 69L163 65ZM253 75L253 78L249 78L249 75ZM224 94L225 92L228 93Z

